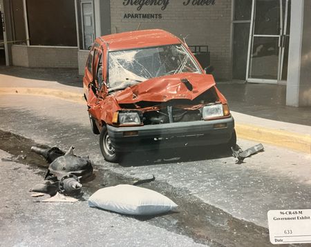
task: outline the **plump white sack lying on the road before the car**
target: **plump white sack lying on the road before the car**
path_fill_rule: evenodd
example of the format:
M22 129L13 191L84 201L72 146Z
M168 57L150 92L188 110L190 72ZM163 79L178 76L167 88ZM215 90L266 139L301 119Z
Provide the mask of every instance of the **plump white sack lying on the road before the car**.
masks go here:
M88 206L125 215L158 215L177 208L177 205L164 195L129 184L97 190L88 199Z

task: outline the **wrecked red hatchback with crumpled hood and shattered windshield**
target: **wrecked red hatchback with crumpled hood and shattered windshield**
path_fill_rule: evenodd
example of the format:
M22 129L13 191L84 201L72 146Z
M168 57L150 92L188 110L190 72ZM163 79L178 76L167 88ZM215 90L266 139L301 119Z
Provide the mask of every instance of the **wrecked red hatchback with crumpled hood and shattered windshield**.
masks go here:
M98 37L83 84L106 161L134 150L236 144L234 119L214 77L164 30Z

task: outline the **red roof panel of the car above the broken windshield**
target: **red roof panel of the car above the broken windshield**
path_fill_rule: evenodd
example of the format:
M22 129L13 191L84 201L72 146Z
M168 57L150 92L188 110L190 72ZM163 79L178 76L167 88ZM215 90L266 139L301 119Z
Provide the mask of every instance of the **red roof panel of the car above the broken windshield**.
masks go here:
M182 43L178 37L160 29L139 30L109 34L96 39L100 45L106 44L109 50L128 50L151 46L165 46Z

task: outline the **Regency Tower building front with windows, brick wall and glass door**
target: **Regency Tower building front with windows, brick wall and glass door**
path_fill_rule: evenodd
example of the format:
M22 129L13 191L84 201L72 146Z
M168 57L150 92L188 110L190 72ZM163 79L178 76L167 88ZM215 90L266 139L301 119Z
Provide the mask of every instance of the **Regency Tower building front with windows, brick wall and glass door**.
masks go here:
M288 105L311 105L308 0L0 2L10 65L82 74L95 37L160 28L189 46L208 47L216 79L287 84Z

